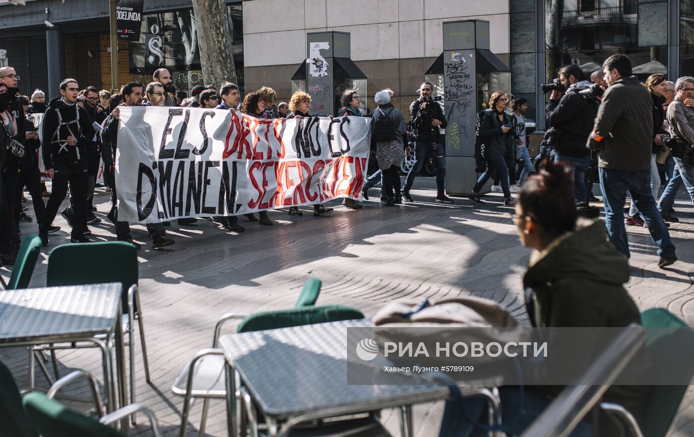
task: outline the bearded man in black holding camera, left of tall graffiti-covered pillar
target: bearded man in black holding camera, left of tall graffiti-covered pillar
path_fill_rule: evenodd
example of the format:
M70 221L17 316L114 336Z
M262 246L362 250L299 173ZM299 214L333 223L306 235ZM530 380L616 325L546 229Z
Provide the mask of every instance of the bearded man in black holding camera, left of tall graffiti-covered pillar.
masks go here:
M432 157L436 167L436 201L452 204L453 201L446 196L446 150L439 135L439 127L446 129L447 123L439 102L432 98L433 89L432 84L424 82L419 87L419 98L412 100L412 104L409 105L409 129L416 139L415 161L405 178L403 199L407 202L414 202L412 196L409 195L414 177L422 170L427 159Z

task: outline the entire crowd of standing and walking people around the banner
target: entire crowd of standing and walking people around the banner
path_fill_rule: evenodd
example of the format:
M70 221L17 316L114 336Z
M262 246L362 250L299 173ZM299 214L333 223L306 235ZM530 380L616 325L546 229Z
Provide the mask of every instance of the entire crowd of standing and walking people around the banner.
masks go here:
M599 162L609 240L628 257L625 225L647 226L659 246L659 265L670 265L677 257L667 222L677 222L672 204L683 183L694 202L694 159L689 159L689 151L694 147L694 78L679 78L677 83L672 83L665 75L655 74L641 84L632 75L629 59L614 55L590 79L586 80L575 65L559 70L555 84L561 84L553 89L546 105L548 132L545 140L553 150L552 159L570 170L577 204L595 200L588 170ZM90 241L87 225L101 221L94 215L93 203L99 159L104 164L105 184L111 188L112 208L107 217L115 224L119 240L139 247L130 236L128 223L118 220L115 201L113 163L121 105L236 109L262 119L312 116L311 97L303 91L294 93L288 103L276 103L276 93L269 87L251 91L242 98L239 87L226 82L219 89L198 85L188 96L185 91L176 92L166 69L155 71L149 84L129 82L113 95L94 87L81 88L76 80L66 79L60 84L60 96L47 103L40 90L31 98L22 96L18 80L12 67L0 69L3 122L0 140L4 144L0 147L3 166L0 260L8 264L13 262L19 245L18 223L32 220L24 212L26 206L22 205L24 187L31 195L44 245L48 244L50 233L60 230L53 225L53 220L68 188L69 206L61 214L71 226L71 241ZM599 95L591 94L595 91L591 86L600 88ZM436 201L453 202L445 192L446 159L441 130L446 128L446 118L441 105L432 99L433 92L432 84L423 82L418 89L419 97L412 101L407 116L393 106L393 91L384 89L375 94L378 107L371 114L371 146L378 170L364 184L364 199L369 199L369 189L380 182L381 201L385 206L414 202L410 194L414 178L431 159L436 168ZM344 91L336 115L367 116L368 112L361 108L361 99L356 90ZM503 91L495 91L491 93L488 109L478 115L477 138L484 143L485 171L468 195L475 204L484 203L480 193L487 181L494 178L492 191L503 193L505 206L515 206L513 194L521 192L527 177L534 172L525 135L523 113L526 110L527 100L513 99ZM37 123L32 116L37 113L44 114L42 139L38 137ZM13 153L15 149L10 140L23 145L26 151L23 157ZM400 163L406 154L412 153L411 146L414 146L414 165L401 181ZM47 193L39 172L39 149L46 175L53 181L46 205L42 200ZM591 150L598 152L591 153ZM518 181L516 166L521 172ZM667 185L659 197L661 172L664 172ZM631 197L632 202L629 215L624 218L622 208L627 197ZM344 199L343 204L347 208L362 208L354 199ZM322 204L314 205L316 216L332 211ZM303 215L296 206L289 208L288 213ZM246 214L246 218L266 226L273 224L266 211L260 212L259 217ZM196 220L187 217L178 220L178 224L194 224ZM239 217L212 217L210 220L230 231L244 231ZM174 244L166 232L169 225L169 222L147 225L154 248Z

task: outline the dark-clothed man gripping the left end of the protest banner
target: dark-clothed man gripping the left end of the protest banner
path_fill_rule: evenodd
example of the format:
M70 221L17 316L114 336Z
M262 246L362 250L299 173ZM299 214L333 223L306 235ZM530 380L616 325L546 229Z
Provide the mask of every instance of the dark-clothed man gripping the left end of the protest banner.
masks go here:
M144 85L142 82L128 82L125 84L122 90L123 103L117 107L114 107L111 114L103 122L103 131L101 131L101 139L104 143L104 148L109 151L110 156L115 157L116 150L118 148L118 127L120 123L120 107L121 106L140 106L142 105L142 92L144 91ZM115 96L114 96L115 97ZM113 99L111 100L113 103ZM108 163L112 165L112 161ZM107 162L104 161L104 166ZM106 177L106 172L104 172L104 177ZM108 174L110 180L108 185L111 187L111 197L112 205L111 211L108 213L107 217L116 228L116 237L120 241L130 242L135 244L135 247L139 249L139 244L133 241L133 237L130 235L130 224L128 222L121 222L118 220L118 204L115 202L117 197L116 193L116 177L115 172L111 171ZM51 197L52 198L52 197ZM164 224L161 223L148 223L146 224L147 231L152 237L152 248L159 249L161 247L171 246L174 244L174 240L167 236L167 231L164 229Z

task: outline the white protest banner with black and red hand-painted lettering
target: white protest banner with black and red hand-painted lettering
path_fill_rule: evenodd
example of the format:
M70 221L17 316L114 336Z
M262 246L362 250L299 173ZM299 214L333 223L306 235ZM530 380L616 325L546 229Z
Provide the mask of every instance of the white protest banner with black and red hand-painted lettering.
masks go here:
M370 118L262 120L222 109L120 108L119 220L239 215L362 197Z

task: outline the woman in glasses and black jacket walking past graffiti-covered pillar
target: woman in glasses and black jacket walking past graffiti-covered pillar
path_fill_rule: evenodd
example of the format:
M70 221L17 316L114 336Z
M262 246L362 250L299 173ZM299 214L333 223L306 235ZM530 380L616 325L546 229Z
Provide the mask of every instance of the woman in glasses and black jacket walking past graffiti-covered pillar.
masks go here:
M504 193L504 205L514 206L516 204L514 198L511 197L509 187L509 163L516 161L516 136L511 129L513 120L504 110L508 100L504 91L494 91L489 98L489 109L486 109L482 115L479 134L486 139L486 160L489 165L480 179L477 179L477 184L473 190L468 194L468 199L478 205L484 204L480 199L480 191L486 181L489 181L494 175L494 172L499 172L501 188Z

